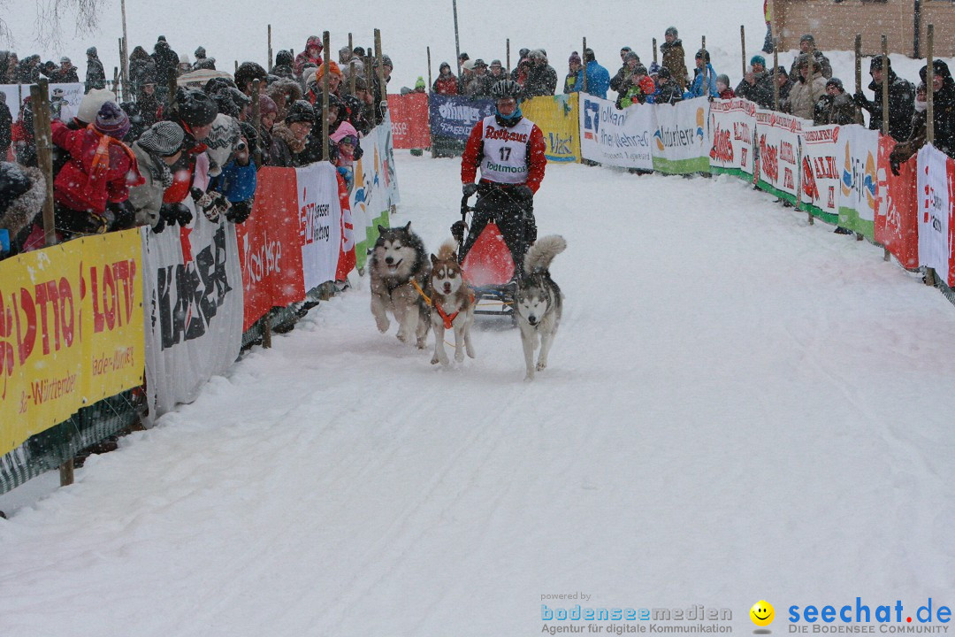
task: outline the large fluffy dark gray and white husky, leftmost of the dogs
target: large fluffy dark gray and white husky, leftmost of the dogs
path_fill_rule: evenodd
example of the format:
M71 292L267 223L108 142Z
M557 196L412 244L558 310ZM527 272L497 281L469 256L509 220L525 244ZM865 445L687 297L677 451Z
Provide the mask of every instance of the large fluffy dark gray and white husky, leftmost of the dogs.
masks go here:
M424 290L431 268L421 238L412 232L411 222L404 227L378 226L378 241L371 253L371 314L381 333L391 325L386 311L398 322L398 339L415 339L419 350L427 343L431 327L431 308L412 282Z

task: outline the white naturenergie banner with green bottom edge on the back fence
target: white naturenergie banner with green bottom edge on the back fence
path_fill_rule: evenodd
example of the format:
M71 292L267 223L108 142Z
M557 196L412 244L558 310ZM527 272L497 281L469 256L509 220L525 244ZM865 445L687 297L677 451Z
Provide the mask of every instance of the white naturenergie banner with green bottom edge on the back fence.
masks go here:
M653 111L653 168L668 175L710 172L710 100L697 97L676 104L656 104Z

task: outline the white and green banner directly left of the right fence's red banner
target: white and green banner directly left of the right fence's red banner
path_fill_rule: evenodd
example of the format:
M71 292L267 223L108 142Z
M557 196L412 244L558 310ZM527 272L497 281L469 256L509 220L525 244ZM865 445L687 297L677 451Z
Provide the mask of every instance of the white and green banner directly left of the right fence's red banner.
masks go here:
M842 159L838 224L872 239L876 219L879 132L859 124L842 126L838 143Z

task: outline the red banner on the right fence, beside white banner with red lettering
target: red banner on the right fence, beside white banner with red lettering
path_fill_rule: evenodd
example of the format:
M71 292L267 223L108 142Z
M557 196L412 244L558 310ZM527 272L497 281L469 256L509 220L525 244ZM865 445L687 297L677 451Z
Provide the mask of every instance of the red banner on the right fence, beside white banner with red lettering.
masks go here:
M902 163L899 176L892 174L889 154L896 141L879 138L879 169L876 186L875 236L899 260L902 267L919 266L918 169L916 158Z

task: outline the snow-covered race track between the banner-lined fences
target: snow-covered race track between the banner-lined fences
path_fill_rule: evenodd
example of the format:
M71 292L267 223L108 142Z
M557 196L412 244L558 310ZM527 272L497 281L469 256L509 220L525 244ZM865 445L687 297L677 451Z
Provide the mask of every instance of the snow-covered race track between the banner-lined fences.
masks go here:
M458 164L397 163L435 248ZM730 178L550 166L537 211L569 246L534 383L492 321L431 366L364 281L74 486L0 499L0 634L534 635L578 591L737 633L766 599L781 634L791 604L955 602L941 294Z

